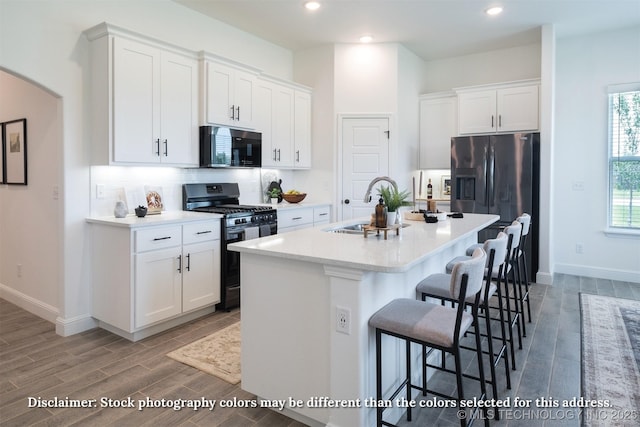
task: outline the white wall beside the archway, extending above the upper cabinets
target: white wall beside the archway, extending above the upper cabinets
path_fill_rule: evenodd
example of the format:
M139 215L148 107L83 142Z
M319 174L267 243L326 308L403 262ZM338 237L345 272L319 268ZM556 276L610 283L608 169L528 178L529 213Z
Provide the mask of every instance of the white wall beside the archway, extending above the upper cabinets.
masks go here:
M169 0L0 2L0 67L25 76L62 98L63 136L54 142L62 151L63 168L63 215L57 229L61 239L61 279L56 308L57 330L65 335L93 325L89 304L89 228L85 222L91 211L89 51L82 31L103 21L187 49L226 56L284 79L289 79L293 70L290 51ZM51 190L47 193L51 194ZM4 215L2 218L7 220ZM13 247L18 242L7 244ZM25 248L35 249L35 244ZM48 290L39 289L34 298L44 301L50 299L49 295Z

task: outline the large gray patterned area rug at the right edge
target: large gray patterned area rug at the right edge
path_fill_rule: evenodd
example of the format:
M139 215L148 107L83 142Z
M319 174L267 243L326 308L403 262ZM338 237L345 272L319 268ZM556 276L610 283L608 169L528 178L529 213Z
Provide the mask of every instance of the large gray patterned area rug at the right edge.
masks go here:
M640 301L580 294L580 310L582 396L611 405L585 409L583 425L638 425Z

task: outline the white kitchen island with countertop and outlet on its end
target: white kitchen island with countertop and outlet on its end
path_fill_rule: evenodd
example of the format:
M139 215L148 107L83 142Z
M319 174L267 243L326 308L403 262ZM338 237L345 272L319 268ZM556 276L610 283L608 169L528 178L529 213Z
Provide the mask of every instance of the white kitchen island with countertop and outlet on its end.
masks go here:
M242 260L242 388L285 401L283 412L309 425L375 425L369 317L395 298L415 298L420 280L444 272L497 220L405 221L387 240L334 232L362 222L353 220L229 245ZM404 356L393 341L383 347L390 389Z

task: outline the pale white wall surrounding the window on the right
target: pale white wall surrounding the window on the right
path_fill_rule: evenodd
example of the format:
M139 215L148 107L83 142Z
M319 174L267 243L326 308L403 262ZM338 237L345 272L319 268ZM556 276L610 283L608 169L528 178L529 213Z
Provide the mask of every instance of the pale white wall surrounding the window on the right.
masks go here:
M556 71L556 271L640 282L640 238L604 234L607 85L640 81L640 27L559 40Z

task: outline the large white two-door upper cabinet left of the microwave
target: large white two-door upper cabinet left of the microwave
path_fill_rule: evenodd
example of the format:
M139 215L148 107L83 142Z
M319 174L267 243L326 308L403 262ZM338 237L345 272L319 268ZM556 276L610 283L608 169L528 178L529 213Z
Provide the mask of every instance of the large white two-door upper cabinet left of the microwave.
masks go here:
M91 41L94 164L198 164L195 55L101 24Z

